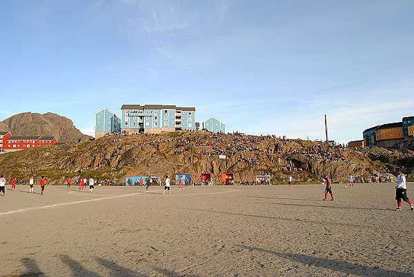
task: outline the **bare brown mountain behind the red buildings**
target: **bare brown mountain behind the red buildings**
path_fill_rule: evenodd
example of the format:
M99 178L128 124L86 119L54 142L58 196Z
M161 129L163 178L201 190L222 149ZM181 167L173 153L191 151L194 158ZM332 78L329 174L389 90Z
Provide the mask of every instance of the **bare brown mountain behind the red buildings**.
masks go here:
M86 141L90 138L77 130L70 119L51 112L16 114L0 122L0 131L10 132L13 136L55 136L59 142Z

